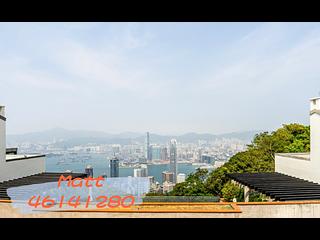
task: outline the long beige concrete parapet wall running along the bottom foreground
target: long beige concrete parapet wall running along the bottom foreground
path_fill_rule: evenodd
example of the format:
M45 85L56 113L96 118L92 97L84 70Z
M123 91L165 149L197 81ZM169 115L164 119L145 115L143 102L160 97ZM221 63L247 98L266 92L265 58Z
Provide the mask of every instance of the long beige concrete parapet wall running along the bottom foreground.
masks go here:
M319 218L320 203L238 205L241 213L107 213L50 212L22 214L10 203L0 202L1 217L74 217L74 218Z

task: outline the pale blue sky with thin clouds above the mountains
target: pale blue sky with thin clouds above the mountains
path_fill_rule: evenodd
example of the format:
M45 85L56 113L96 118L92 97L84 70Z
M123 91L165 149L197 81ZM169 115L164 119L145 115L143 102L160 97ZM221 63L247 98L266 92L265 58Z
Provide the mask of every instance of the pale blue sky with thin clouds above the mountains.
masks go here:
M0 23L7 133L309 124L320 23Z

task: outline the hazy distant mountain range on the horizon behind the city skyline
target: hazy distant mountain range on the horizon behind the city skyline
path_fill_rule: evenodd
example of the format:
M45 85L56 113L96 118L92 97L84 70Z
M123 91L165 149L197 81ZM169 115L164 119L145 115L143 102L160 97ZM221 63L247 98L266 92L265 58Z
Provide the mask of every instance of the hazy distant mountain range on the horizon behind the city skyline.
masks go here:
M151 143L167 143L171 138L176 138L180 142L197 142L198 140L215 140L221 138L236 138L244 142L250 142L255 134L260 131L233 132L226 134L209 133L186 133L182 135L159 135L150 133ZM63 128L53 128L41 132L26 134L8 135L9 145L29 142L29 143L49 143L56 142L57 146L72 147L80 144L129 144L133 142L144 142L145 133L123 132L110 134L100 131L67 130Z

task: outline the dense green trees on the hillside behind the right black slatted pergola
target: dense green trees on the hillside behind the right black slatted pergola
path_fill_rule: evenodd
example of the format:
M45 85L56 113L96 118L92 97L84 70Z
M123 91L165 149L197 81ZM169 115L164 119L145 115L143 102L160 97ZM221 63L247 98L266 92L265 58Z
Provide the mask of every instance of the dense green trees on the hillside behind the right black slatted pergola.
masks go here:
M223 195L228 183L228 173L273 172L274 154L310 151L310 128L300 124L283 125L268 133L257 134L246 151L235 154L223 166L211 173L199 170L191 174L186 182L177 184L170 195ZM226 192L230 186L227 185ZM229 190L228 190L229 191ZM227 192L228 192L227 191Z

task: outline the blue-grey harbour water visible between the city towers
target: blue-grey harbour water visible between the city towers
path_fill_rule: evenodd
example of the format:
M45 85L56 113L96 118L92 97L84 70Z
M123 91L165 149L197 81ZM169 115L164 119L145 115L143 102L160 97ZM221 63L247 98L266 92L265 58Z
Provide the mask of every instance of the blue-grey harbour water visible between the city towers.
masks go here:
M109 175L109 160L106 154L84 153L84 154L62 154L48 155L46 157L47 172L84 172L87 165L93 167L95 177L106 174ZM186 175L195 172L199 166L191 163L178 163L178 173ZM119 170L120 177L133 176L133 167L121 167ZM148 164L148 175L154 176L158 182L162 181L162 172L169 170L169 164Z

